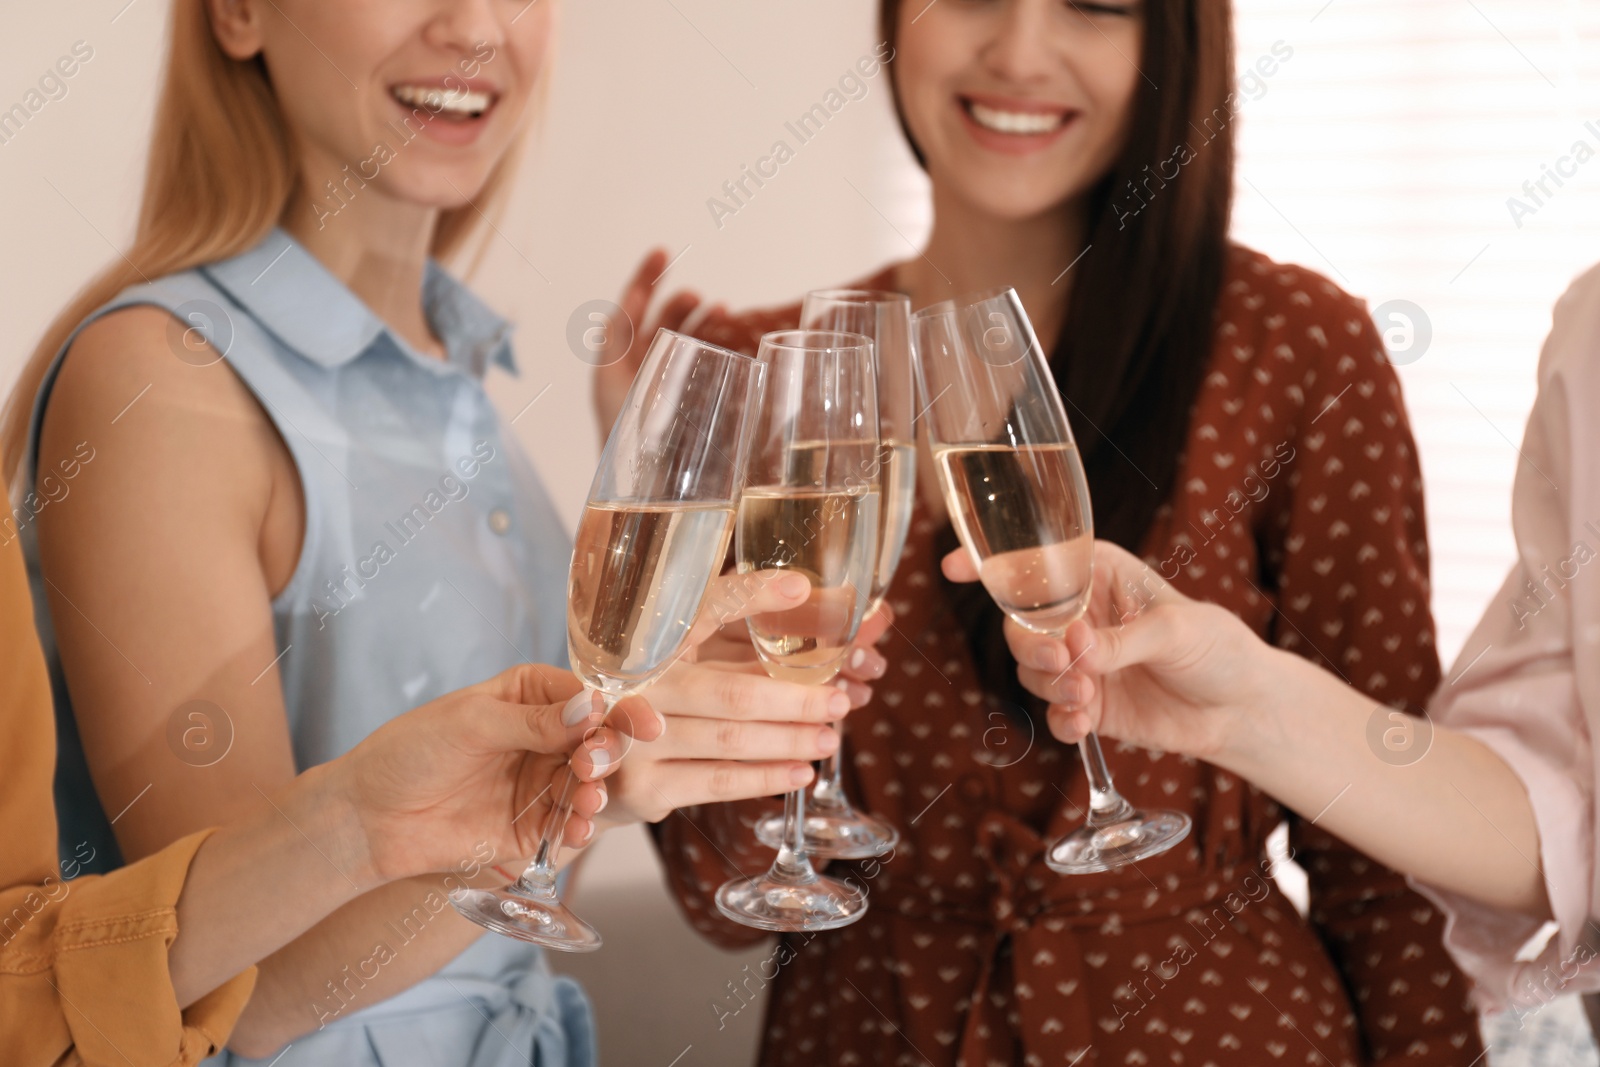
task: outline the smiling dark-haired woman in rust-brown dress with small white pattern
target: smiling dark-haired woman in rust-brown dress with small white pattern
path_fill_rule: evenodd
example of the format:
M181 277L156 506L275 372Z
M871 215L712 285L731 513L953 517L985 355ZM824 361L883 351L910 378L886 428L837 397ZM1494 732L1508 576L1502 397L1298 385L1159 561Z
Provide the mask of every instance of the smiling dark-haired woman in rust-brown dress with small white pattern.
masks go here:
M1229 5L885 0L882 35L934 224L861 285L914 306L1014 286L1051 352L1099 536L1373 699L1424 702L1438 659L1395 374L1360 301L1227 237ZM712 314L698 333L752 347L795 317ZM626 366L605 373L600 403ZM786 937L762 1061L1472 1062L1440 912L1315 809L1118 745L1128 800L1186 811L1192 837L1109 873L1045 867L1045 841L1083 821L1086 782L1018 686L998 609L942 581L954 536L926 450L920 477L888 670L846 741L854 800L904 838L834 865L869 888L862 921ZM661 827L685 909L722 944L755 936L712 893L730 862L765 865L760 809L693 808ZM1285 821L1306 917L1267 877Z

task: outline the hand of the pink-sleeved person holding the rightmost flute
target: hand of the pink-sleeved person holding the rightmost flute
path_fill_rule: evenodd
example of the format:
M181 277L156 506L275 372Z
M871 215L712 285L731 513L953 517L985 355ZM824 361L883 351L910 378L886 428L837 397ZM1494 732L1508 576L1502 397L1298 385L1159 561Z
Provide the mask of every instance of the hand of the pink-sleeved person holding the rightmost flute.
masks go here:
M965 549L944 557L950 581L978 581ZM1286 691L1291 664L1238 617L1184 597L1142 560L1094 542L1094 585L1066 638L1005 622L1018 678L1050 701L1050 733L1090 731L1165 752L1216 758L1251 709Z

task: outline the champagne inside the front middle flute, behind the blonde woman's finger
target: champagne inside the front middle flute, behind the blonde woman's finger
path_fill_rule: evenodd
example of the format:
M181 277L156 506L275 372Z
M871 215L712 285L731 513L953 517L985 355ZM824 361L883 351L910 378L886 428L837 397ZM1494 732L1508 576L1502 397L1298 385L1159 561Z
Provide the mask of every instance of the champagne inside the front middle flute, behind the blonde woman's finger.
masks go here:
M784 568L811 579L803 605L750 617L768 673L784 681L829 681L866 614L877 565L877 490L749 488L738 526L741 574Z

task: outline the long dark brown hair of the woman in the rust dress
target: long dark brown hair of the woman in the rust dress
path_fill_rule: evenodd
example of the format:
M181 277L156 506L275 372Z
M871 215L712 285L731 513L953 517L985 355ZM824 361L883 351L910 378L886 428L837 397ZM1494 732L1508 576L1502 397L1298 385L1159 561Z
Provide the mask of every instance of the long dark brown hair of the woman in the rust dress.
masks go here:
M880 0L885 42L899 18L901 0ZM1227 0L1144 2L1128 139L1086 197L1088 251L1050 355L1088 470L1094 533L1131 552L1173 493L1214 344L1234 189L1232 22ZM894 96L920 162L898 85ZM1078 251L1062 250L1062 262ZM942 547L955 547L954 534ZM976 584L949 592L989 691L1030 705L1000 609Z

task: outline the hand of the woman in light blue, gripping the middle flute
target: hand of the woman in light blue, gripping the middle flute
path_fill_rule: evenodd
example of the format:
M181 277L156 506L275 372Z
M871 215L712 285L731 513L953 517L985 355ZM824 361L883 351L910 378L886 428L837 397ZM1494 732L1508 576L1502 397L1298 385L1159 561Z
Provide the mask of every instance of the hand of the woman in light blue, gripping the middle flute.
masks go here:
M747 616L795 608L810 589L803 574L781 569L725 574L714 582L688 638L691 651L648 689L667 726L659 736L635 734L610 782L602 825L658 822L674 808L773 797L811 781L811 761L838 749L834 725L856 705L851 693L776 681L754 659L699 656L723 625L738 622L742 629ZM874 616L870 629L862 625L858 648L886 625L886 614ZM858 673L877 656L864 651ZM850 657L853 653L846 664Z

